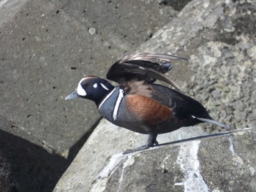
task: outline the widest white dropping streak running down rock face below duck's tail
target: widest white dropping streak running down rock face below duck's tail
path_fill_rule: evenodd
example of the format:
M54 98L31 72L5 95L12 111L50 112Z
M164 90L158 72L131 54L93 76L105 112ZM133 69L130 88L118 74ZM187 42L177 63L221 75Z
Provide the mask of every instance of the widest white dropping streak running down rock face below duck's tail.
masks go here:
M210 191L200 174L200 162L197 158L200 141L187 142L181 145L177 163L184 172L184 180L175 185L184 185L184 192Z

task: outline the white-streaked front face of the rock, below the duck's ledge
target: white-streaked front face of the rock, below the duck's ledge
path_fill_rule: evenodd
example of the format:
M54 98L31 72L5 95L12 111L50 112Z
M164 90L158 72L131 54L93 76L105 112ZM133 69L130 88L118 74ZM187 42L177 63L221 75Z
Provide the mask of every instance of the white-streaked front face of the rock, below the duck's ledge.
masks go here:
M91 191L255 191L255 133L245 129L129 155Z

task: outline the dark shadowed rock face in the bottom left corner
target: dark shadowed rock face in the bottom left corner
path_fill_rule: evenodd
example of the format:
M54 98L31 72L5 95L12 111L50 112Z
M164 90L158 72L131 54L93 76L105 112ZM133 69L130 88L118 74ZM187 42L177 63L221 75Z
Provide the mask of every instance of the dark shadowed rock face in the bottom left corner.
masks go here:
M3 192L52 191L70 164L67 159L1 129L0 146L0 191Z

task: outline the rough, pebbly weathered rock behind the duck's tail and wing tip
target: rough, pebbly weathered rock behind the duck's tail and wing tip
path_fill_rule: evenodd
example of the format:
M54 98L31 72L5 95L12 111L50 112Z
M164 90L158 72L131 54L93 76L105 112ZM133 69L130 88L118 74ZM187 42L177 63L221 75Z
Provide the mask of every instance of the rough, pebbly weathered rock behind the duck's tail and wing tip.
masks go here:
M255 23L256 1L191 1L140 50L187 56L170 72L182 90L215 119L255 127Z

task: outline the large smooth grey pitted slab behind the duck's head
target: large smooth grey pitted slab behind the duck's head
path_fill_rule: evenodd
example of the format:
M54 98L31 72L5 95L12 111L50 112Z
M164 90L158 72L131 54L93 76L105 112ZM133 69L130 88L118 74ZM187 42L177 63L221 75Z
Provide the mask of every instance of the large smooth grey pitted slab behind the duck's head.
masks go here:
M16 127L4 131L73 158L100 116L64 96L176 15L157 1L1 1L0 115Z

